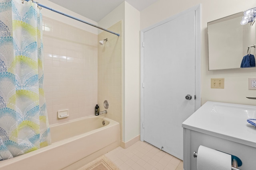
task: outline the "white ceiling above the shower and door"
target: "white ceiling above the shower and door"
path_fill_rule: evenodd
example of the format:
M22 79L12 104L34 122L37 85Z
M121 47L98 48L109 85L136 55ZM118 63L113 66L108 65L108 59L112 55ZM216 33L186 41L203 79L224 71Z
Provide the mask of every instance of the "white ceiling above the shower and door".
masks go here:
M93 21L100 21L112 10L126 1L138 11L142 11L157 0L49 0L68 10Z

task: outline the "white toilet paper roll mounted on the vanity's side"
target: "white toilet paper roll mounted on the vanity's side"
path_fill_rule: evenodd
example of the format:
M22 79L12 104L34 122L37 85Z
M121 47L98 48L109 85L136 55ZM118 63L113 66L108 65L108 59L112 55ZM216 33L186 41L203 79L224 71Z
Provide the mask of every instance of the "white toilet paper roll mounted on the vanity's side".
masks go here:
M231 170L231 155L200 145L197 170Z

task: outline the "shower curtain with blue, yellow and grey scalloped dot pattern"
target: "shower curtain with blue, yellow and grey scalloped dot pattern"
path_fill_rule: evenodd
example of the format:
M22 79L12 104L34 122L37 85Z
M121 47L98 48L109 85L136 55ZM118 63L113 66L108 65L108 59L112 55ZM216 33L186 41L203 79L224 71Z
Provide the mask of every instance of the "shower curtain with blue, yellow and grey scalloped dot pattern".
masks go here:
M37 4L0 0L0 160L50 145L42 47Z

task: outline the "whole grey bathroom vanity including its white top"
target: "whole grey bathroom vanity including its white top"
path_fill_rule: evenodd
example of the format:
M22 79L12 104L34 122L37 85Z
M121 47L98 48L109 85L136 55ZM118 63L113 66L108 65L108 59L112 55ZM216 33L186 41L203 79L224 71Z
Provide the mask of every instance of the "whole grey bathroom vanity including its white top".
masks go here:
M197 170L200 145L237 156L240 170L255 170L256 127L247 119L256 119L256 106L206 102L182 123L184 170Z

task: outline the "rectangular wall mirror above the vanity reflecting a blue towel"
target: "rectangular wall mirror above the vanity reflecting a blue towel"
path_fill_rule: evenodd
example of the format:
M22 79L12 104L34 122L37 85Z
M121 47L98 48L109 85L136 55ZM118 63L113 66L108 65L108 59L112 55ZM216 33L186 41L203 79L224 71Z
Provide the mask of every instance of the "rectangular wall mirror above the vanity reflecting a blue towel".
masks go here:
M207 23L208 70L240 68L248 46L256 44L254 23L241 25L243 12ZM255 56L255 48L250 54Z

